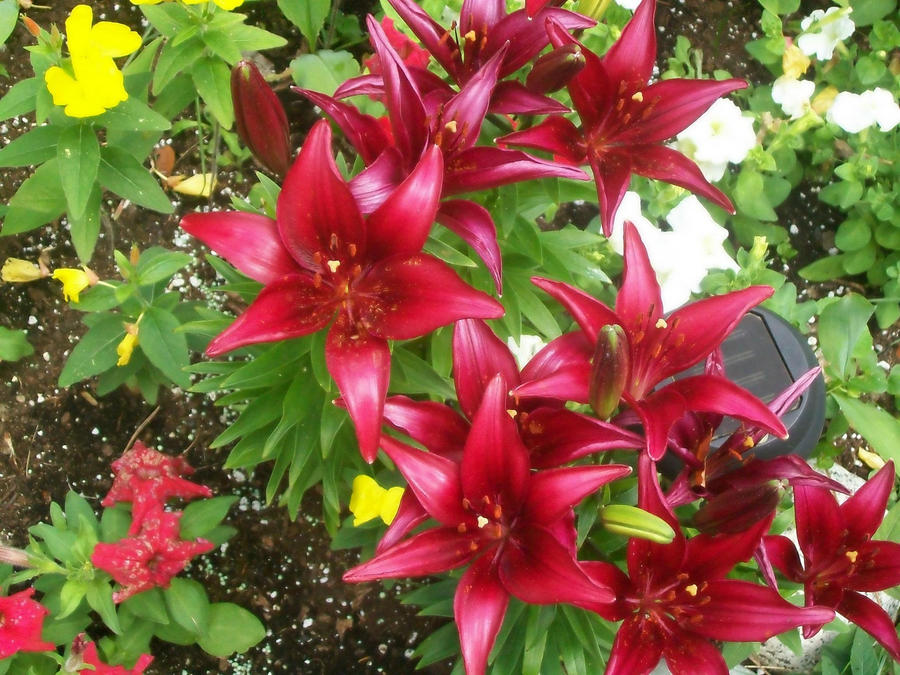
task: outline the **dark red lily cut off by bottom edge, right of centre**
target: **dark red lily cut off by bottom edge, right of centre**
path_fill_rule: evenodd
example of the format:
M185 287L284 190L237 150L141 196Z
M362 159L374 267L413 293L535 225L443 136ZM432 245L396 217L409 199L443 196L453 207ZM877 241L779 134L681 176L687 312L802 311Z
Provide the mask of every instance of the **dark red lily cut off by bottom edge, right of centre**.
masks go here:
M638 463L638 505L668 522L670 544L633 537L625 575L609 563L583 563L598 583L616 591L616 602L597 610L619 627L606 675L649 673L665 658L674 675L721 673L728 667L711 640L756 642L809 621L830 621L825 607L795 607L771 588L726 579L748 560L771 519L737 535L685 539L665 506L649 457Z

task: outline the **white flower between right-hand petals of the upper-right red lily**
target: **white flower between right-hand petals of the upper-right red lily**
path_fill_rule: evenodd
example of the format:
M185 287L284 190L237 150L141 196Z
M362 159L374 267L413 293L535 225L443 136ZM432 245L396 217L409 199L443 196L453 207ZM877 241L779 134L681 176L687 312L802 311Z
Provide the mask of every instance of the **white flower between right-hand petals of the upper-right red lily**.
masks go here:
M677 136L675 147L694 160L707 180L719 180L729 162L739 164L756 146L753 118L722 98Z

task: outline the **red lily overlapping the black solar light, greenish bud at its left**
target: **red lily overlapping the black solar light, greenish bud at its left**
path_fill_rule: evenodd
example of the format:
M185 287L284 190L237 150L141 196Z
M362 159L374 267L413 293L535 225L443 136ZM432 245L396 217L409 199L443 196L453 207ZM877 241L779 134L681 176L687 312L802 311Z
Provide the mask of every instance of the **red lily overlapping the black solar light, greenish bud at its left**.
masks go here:
M738 324L750 308L770 295L768 286L705 298L673 312L662 313L659 283L637 229L625 223L625 272L616 296L615 311L568 284L532 278L569 311L592 344L604 326L618 325L627 340L628 376L622 398L640 416L647 450L654 461L666 451L672 424L688 411L731 415L766 432L784 437L781 420L750 392L730 380L697 375L676 380L659 389L663 380L687 370L712 350ZM585 371L590 371L585 363Z

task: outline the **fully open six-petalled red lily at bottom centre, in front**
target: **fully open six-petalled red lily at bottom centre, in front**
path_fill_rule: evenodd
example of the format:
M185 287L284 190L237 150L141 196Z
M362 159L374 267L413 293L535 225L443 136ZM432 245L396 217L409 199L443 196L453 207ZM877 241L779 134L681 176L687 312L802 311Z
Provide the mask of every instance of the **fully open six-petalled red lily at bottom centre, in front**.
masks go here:
M488 385L459 462L382 438L383 449L438 524L344 574L344 581L361 582L470 564L453 604L469 675L484 673L510 595L533 604L613 600L575 560L572 507L630 472L607 465L532 473L528 450L506 412L506 392L500 375Z

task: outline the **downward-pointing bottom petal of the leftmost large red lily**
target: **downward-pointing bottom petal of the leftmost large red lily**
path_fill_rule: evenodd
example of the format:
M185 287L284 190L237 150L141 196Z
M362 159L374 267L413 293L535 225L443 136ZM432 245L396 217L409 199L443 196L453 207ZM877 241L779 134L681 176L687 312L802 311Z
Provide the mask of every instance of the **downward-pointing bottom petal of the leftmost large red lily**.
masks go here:
M341 312L328 331L325 365L353 420L359 451L371 464L378 453L384 398L391 377L387 342L360 333Z

